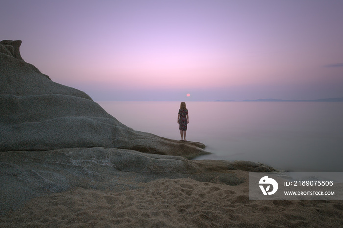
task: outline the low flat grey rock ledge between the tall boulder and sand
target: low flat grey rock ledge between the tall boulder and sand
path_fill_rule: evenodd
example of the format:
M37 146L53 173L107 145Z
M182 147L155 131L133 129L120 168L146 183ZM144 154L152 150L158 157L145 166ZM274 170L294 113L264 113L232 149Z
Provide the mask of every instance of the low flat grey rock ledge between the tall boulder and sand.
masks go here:
M161 178L239 185L246 181L232 172L239 164L102 147L0 152L0 215L34 197L75 187L123 191ZM253 162L244 169L270 171Z

